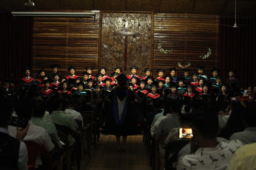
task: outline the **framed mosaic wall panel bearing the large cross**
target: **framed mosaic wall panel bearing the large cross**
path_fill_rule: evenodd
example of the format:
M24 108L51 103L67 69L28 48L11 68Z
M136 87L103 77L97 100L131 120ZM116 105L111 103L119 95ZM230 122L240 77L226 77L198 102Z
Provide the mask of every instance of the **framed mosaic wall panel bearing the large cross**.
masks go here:
M130 74L129 68L136 65L138 75L144 76L152 58L152 13L102 12L101 18L100 66L108 68L109 76L117 66Z

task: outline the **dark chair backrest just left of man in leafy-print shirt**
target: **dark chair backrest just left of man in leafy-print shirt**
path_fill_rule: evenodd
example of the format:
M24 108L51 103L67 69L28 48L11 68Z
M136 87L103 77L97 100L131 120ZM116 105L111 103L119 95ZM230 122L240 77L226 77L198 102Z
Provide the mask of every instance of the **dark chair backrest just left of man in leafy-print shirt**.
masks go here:
M188 140L177 140L169 142L165 147L165 169L173 169L173 163L177 162L179 151L188 144ZM170 154L172 154L169 159Z

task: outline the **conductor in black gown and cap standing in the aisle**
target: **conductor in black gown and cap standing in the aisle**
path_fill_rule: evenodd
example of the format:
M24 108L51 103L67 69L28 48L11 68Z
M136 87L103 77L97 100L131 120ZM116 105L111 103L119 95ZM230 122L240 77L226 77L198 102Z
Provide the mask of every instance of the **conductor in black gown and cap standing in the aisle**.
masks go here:
M129 89L126 81L128 78L124 74L116 77L119 86L108 94L109 113L106 120L106 132L116 136L117 152L120 152L120 138L123 137L123 152L127 136L136 134L136 105L135 95Z

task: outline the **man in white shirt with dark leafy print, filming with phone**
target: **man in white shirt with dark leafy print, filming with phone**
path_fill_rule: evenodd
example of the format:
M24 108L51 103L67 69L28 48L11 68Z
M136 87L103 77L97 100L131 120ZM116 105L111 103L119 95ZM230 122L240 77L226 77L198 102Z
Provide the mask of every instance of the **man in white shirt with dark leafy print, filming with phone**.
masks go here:
M181 156L177 169L226 169L229 159L243 145L242 142L218 142L218 115L206 108L199 108L191 115L191 125L191 151Z

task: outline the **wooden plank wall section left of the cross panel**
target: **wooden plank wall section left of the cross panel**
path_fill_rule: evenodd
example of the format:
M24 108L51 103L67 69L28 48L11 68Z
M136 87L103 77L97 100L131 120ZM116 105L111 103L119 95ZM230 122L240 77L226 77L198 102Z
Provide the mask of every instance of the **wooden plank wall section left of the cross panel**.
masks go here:
M100 12L93 12L95 20L94 17L34 17L33 71L44 68L50 74L49 66L58 64L58 72L68 75L67 68L72 65L76 67L76 75L81 76L86 66L98 69ZM96 74L97 70L93 72Z

